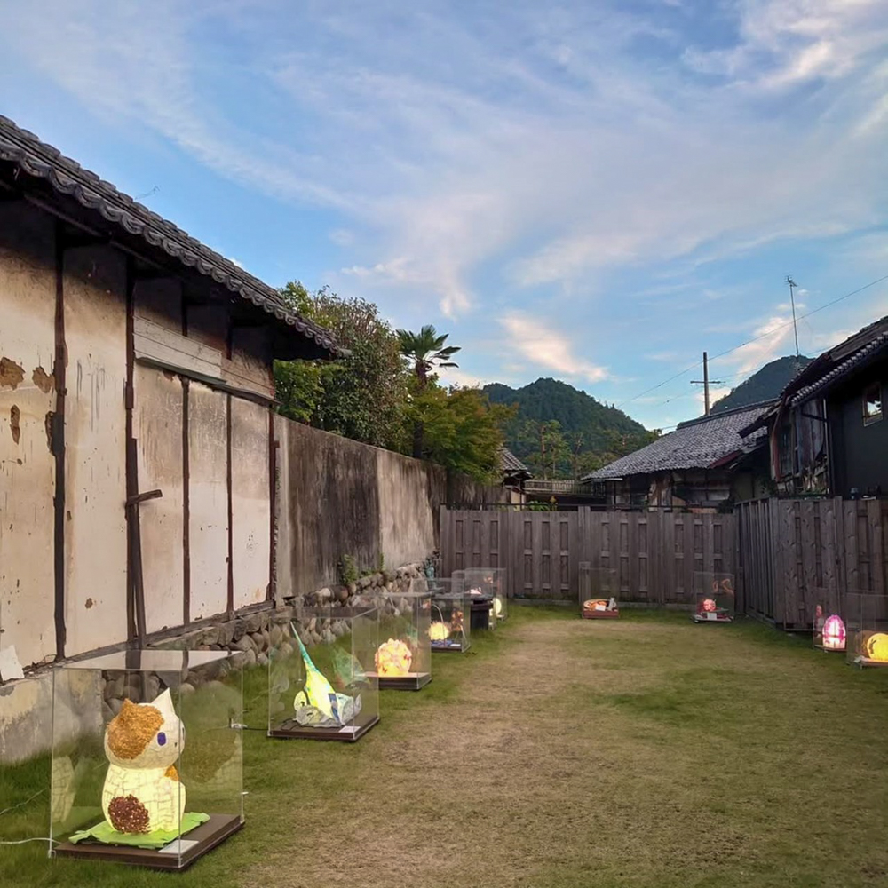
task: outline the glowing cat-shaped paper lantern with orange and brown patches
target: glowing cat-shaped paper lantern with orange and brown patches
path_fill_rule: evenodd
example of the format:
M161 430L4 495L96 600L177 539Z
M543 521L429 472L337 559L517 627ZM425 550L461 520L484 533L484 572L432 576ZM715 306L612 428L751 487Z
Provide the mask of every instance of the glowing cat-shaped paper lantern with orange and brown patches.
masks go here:
M185 787L175 763L185 747L185 727L169 689L150 703L123 701L105 730L111 765L102 790L102 811L118 832L180 829Z

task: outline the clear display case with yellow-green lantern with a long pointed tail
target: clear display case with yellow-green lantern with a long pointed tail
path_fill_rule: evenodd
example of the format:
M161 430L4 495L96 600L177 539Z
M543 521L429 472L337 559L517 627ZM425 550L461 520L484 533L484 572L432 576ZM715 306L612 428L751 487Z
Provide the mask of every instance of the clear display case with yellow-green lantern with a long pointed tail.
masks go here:
M268 657L268 736L354 742L379 721L376 607L305 607Z

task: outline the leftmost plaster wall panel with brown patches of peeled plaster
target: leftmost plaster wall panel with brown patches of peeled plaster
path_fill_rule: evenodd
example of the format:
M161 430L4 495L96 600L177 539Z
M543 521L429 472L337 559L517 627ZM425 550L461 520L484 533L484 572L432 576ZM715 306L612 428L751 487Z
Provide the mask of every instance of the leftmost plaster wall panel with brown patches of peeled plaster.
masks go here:
M55 653L53 222L0 203L0 647L25 665Z

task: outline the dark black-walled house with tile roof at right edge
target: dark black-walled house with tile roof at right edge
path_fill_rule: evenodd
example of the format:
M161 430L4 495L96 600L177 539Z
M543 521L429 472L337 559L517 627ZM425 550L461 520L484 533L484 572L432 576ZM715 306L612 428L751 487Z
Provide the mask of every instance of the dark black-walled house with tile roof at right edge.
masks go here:
M888 316L808 364L757 428L781 494L888 496Z

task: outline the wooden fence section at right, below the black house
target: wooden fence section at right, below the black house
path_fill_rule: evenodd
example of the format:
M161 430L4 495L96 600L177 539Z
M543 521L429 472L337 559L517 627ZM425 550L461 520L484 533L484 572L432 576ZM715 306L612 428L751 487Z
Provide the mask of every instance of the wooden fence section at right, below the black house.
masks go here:
M747 613L807 630L816 604L841 609L846 591L888 591L888 503L767 499L735 513Z

